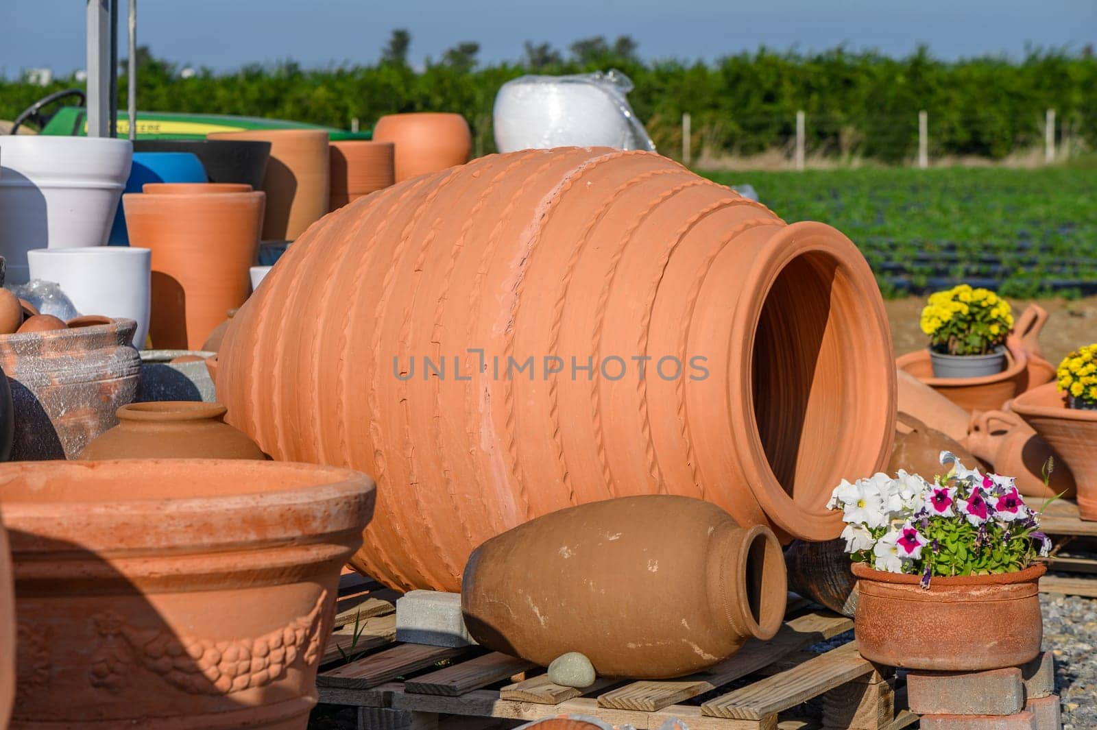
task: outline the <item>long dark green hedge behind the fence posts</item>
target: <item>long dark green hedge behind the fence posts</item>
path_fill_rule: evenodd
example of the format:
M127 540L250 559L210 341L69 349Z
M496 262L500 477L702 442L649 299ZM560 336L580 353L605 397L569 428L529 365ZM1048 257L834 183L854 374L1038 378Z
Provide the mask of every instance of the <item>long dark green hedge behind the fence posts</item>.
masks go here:
M1043 140L1044 110L1058 111L1061 136L1097 147L1097 58L1088 52L1033 52L1020 61L998 57L943 61L926 48L906 58L835 48L822 53L760 49L715 64L643 61L627 37L588 38L565 58L527 45L520 62L479 66L477 44L446 52L415 70L410 38L394 34L382 60L363 66L303 69L293 62L248 66L233 73L180 67L144 49L138 57L139 106L150 111L239 114L347 127L370 126L382 114L425 110L460 112L473 126L475 152L494 151L491 106L499 87L524 73L576 73L617 67L635 83L630 100L664 153L681 149L681 115L692 116L694 150L751 155L787 144L795 113L807 114L813 152L896 162L917 146L917 113L930 118L930 155L1003 158ZM394 48L394 42L396 47ZM73 85L43 88L0 80L0 118L35 99ZM121 82L125 107L125 80Z

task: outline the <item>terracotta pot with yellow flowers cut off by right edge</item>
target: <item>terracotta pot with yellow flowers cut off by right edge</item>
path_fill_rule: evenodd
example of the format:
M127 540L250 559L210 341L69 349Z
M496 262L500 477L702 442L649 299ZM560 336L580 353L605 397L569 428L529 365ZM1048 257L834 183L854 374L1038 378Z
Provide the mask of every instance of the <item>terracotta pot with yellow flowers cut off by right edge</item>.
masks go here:
M1010 408L1071 470L1082 518L1097 520L1097 411L1067 408L1054 383L1021 393Z

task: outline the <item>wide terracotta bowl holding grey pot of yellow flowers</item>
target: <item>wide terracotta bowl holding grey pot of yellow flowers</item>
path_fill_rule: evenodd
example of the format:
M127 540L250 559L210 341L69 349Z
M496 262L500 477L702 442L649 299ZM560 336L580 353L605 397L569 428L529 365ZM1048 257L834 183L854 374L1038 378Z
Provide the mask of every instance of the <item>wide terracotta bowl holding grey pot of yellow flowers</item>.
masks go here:
M1010 338L1007 345L1006 369L979 378L934 377L929 351L925 349L909 352L895 363L965 411L993 411L1021 392L1028 383L1028 353L1016 338Z

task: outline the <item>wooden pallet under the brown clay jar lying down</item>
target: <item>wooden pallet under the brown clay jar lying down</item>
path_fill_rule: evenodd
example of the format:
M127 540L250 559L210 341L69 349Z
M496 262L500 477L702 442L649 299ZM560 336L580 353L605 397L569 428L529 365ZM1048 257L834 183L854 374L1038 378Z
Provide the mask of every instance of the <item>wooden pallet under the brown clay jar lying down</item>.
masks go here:
M822 654L804 651L848 631L852 621L799 600L776 637L750 640L705 672L658 682L600 678L586 689L553 684L542 668L479 647L397 642L384 602L369 591L354 600L371 615L354 628L348 617L357 606L348 609L341 598L342 626L326 659L332 652L337 659L351 651L364 655L329 665L317 687L320 703L358 707L360 728L425 730L437 728L440 716L530 721L576 714L637 730L656 730L671 718L691 730L783 730L811 727L783 714L814 698L822 699L827 728L900 730L917 720L896 708L892 672L862 659L855 642Z

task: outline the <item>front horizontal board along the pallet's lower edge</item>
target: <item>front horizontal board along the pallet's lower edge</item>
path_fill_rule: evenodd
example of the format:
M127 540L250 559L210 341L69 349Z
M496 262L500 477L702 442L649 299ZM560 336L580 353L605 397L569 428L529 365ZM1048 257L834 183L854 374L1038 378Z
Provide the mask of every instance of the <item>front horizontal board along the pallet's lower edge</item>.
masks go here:
M681 720L690 730L777 730L777 716L764 720L728 720L705 717L701 715L699 707L689 705L671 705L656 712L636 712L600 708L597 700L591 697L577 697L559 705L541 705L500 699L498 692L489 689L473 689L460 697L396 693L393 695L393 707L421 712L527 721L558 715L589 715L609 725L631 725L636 730L659 730L659 727L670 719Z

